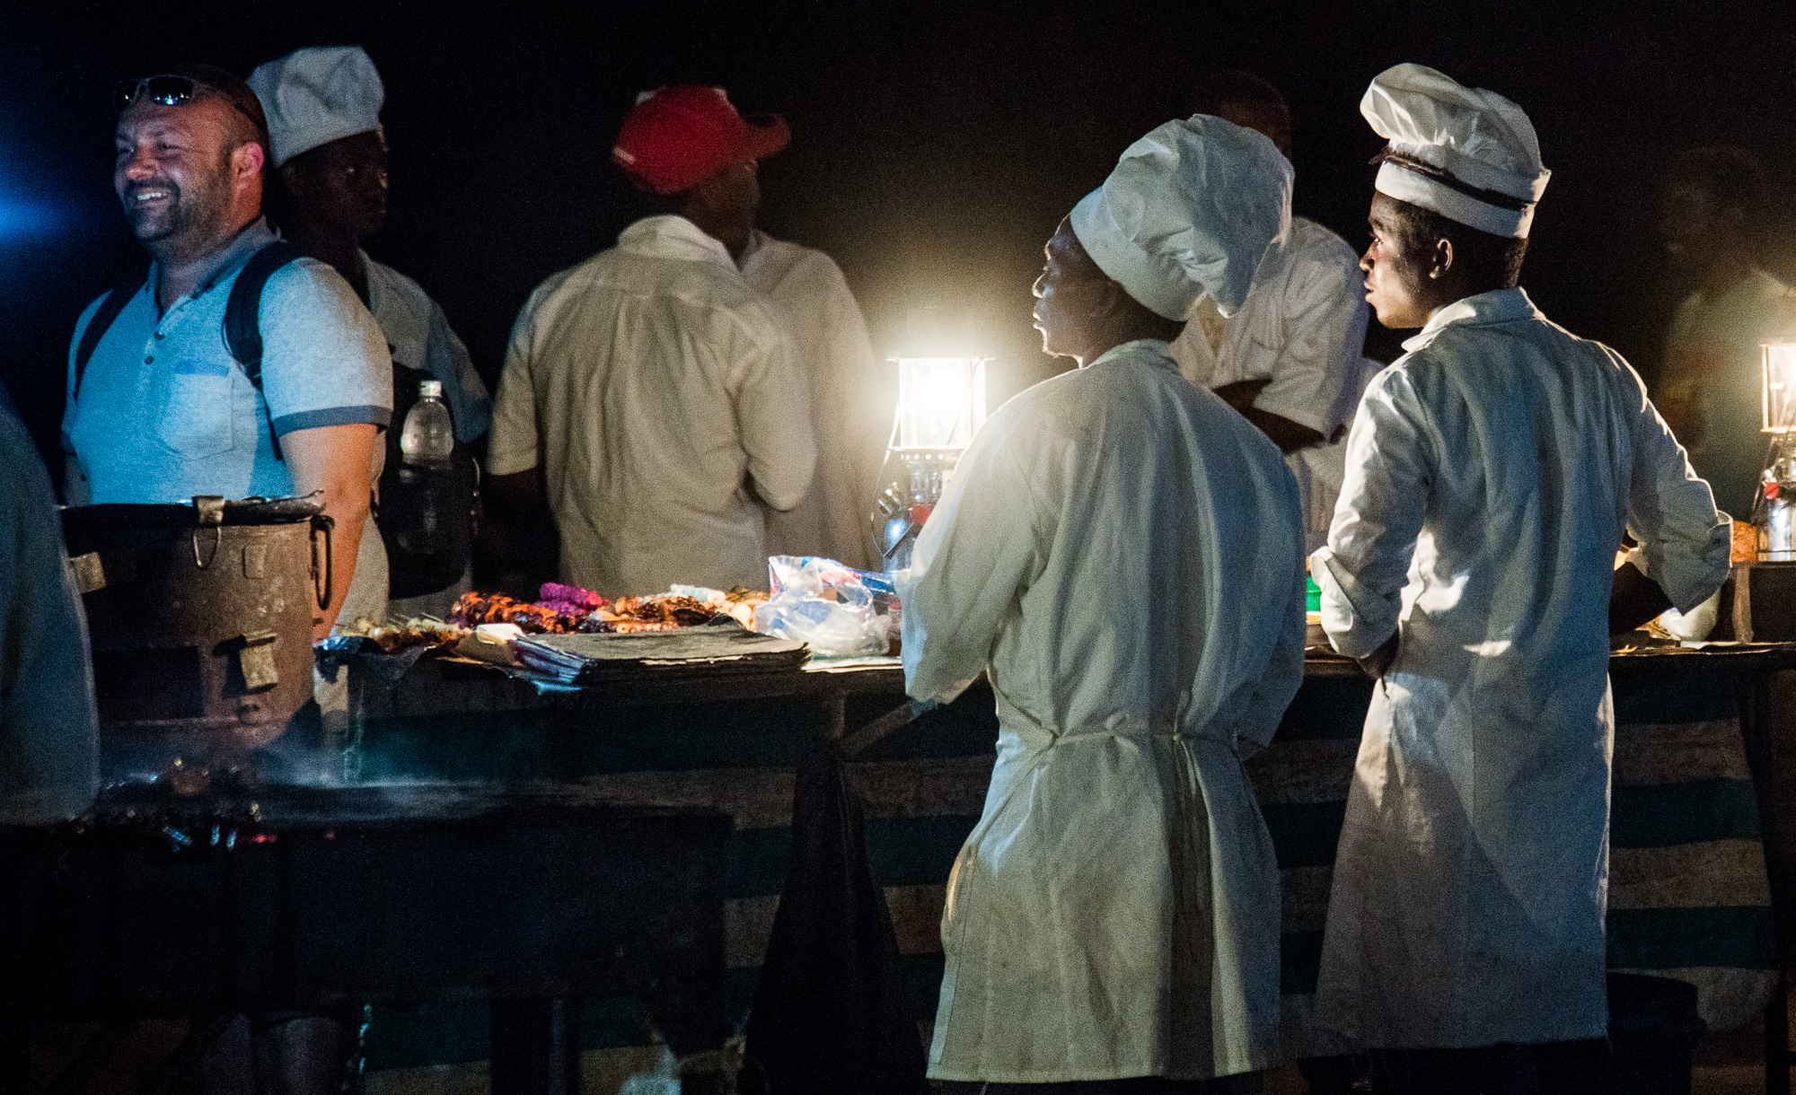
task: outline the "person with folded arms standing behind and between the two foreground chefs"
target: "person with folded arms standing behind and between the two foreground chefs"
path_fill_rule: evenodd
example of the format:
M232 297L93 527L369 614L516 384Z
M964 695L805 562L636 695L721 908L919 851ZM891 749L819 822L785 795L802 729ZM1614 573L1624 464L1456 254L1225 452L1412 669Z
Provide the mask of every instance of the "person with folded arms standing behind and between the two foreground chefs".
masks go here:
M1214 72L1191 95L1198 113L1248 126L1291 158L1291 108L1252 72ZM1365 348L1360 257L1309 217L1261 258L1241 309L1223 316L1203 298L1173 357L1193 384L1223 402L1284 451L1304 506L1304 551L1329 537L1345 469L1345 424L1372 377Z

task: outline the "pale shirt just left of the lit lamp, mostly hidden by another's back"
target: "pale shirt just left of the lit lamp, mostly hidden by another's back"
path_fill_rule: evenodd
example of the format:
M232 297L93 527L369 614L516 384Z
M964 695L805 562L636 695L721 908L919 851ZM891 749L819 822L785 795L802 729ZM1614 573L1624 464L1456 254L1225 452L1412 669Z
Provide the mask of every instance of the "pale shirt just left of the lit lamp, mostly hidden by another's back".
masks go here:
M855 294L823 251L754 230L742 276L785 309L792 348L810 388L817 474L805 501L767 515L767 555L823 555L851 567L873 562L873 494L885 456L885 388Z

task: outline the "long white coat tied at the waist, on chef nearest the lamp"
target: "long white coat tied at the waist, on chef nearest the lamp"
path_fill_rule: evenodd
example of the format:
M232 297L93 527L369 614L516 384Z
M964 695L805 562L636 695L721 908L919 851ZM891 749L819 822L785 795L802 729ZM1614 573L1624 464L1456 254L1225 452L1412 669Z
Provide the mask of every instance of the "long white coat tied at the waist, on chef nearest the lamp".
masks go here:
M898 574L912 696L986 671L999 759L948 880L930 1075L1266 1068L1279 867L1241 758L1302 680L1277 447L1115 346L1004 404Z

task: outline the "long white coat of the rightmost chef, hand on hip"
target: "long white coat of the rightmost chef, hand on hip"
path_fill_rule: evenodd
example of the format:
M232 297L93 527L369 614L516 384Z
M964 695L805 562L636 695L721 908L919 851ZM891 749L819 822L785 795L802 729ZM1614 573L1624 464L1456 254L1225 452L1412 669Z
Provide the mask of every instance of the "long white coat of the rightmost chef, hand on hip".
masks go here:
M1394 632L1329 896L1318 1021L1367 1047L1602 1038L1607 607L1624 526L1679 610L1728 521L1640 377L1521 289L1439 311L1367 390L1322 626Z

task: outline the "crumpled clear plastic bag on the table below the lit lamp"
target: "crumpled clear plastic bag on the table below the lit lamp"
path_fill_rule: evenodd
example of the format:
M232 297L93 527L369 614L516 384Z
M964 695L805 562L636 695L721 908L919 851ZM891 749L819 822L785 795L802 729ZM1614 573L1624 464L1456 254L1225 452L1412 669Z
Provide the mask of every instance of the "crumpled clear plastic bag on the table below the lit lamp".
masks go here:
M828 657L885 653L898 634L891 578L815 555L767 560L772 596L754 610L754 630L808 643Z

